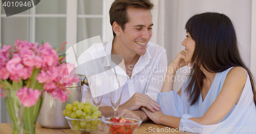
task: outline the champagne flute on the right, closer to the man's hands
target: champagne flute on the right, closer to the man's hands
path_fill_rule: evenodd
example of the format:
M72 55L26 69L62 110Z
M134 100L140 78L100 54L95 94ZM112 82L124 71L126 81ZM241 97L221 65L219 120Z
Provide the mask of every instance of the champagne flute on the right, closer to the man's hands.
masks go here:
M121 101L123 85L125 82L126 76L118 74L109 76L110 99L112 108L114 110L114 117L116 117L116 112Z

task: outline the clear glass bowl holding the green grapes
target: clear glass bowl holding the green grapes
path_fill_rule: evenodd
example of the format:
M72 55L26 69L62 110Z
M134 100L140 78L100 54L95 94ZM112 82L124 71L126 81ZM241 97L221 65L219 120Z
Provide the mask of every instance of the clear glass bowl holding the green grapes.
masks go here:
M98 117L98 119L75 119L75 118L69 118L65 117L69 123L70 128L77 133L84 133L84 132L92 132L95 133L102 122L102 119L104 118L103 115Z

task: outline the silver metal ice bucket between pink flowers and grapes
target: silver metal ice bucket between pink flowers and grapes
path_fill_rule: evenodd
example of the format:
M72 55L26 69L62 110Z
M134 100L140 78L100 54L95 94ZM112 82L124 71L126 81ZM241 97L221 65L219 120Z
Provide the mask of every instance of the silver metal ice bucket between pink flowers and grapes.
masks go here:
M79 74L78 74L79 75ZM38 116L39 124L42 127L46 128L70 128L67 119L63 116L62 111L65 110L65 107L68 103L73 103L75 100L82 100L82 89L83 84L88 85L87 79L84 75L80 76L80 82L77 84L67 87L67 90L70 91L68 95L68 100L66 102L60 102L58 99L53 99L52 96L45 93L44 101L42 102L41 111Z

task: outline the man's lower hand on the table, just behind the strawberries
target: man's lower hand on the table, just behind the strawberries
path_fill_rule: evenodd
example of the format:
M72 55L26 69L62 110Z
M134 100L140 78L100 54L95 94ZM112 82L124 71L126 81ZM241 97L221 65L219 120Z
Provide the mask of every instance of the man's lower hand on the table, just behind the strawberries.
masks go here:
M133 119L142 120L143 122L148 120L147 115L142 110L131 111L131 110L123 109L117 115L117 117L133 118Z

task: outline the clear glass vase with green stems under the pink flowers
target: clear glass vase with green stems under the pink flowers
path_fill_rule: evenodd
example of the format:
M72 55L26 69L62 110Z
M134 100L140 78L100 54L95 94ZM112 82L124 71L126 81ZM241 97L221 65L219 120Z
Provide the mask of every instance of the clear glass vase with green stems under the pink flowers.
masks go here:
M5 89L5 103L8 114L12 122L13 134L34 134L35 122L40 112L41 103L44 94L41 92L36 104L27 108L20 104L16 96L17 90Z

